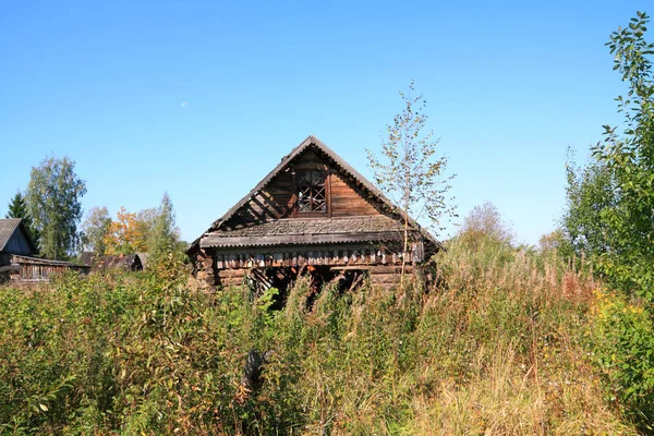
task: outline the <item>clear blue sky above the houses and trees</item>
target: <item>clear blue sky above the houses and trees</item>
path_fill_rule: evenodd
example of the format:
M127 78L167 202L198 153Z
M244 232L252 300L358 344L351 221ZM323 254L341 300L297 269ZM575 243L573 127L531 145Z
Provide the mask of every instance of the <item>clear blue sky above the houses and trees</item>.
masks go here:
M310 134L372 179L365 148L414 78L459 215L492 202L536 243L565 205L566 148L583 159L620 120L604 44L652 3L0 4L2 216L32 167L69 156L86 210L168 191L191 241Z

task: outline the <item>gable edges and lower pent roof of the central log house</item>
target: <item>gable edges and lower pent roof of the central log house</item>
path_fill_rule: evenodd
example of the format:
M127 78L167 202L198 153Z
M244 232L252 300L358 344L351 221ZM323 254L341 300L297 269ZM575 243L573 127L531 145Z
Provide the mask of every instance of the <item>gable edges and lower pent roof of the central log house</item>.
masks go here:
M220 232L222 225L232 218L242 207L244 207L252 198L254 198L262 190L264 190L272 179L280 174L287 167L292 165L305 152L313 150L318 156L322 156L329 161L334 168L348 179L352 180L361 189L370 194L370 197L378 203L379 208L384 209L387 216L379 217L348 217L330 218L330 219L279 219L271 222L261 223L245 229L237 229ZM214 246L249 246L249 245L275 245L281 241L293 241L292 243L334 243L340 242L330 240L327 237L334 233L370 232L373 226L374 233L377 234L376 240L389 238L395 234L393 240L397 240L399 222L401 216L398 214L399 208L386 196L377 186L371 183L359 171L352 168L331 148L325 145L322 141L311 135L295 148L284 156L281 161L270 171L261 182L256 184L241 201L231 207L222 217L214 221L214 223L191 244L189 253L196 251L198 247ZM365 222L364 222L365 221ZM433 244L436 250L443 250L443 244L437 241L426 229L422 228L417 222L410 218L410 227L413 232L420 233L427 242ZM384 233L385 235L382 235ZM315 237L315 238L288 238L288 237ZM284 238L287 237L287 238ZM372 235L366 238L362 235L362 241L374 240ZM353 241L355 237L350 237L348 241ZM295 241L298 240L298 241ZM324 241L323 241L324 240ZM257 242L258 241L258 242Z

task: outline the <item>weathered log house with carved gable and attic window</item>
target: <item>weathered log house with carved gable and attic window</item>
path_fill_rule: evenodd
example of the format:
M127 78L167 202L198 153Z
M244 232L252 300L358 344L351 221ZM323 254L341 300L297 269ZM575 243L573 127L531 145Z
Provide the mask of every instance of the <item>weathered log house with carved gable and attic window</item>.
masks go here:
M197 238L187 253L196 276L209 284L250 277L283 287L300 271L324 280L370 274L391 284L407 256L408 269L428 261L441 244L370 181L314 136L296 146L247 195Z

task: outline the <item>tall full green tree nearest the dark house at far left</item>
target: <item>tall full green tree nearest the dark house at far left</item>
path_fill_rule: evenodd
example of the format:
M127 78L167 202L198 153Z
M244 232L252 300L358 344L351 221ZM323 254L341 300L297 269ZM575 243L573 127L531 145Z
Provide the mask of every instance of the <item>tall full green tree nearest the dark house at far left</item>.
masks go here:
M80 242L80 198L86 194L86 183L74 169L75 162L68 157L49 157L32 168L26 199L40 233L41 254L48 258L69 258Z

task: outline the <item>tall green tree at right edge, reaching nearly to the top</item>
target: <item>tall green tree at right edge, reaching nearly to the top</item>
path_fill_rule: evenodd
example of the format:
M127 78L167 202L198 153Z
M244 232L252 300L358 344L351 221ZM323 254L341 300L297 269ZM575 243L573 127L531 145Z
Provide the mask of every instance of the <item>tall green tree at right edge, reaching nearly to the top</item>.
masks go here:
M607 44L614 69L629 87L626 98L617 98L626 129L620 133L605 126L605 140L593 152L614 178L617 193L616 204L602 211L608 249L598 267L611 284L654 302L654 43L644 38L649 21L638 12Z

